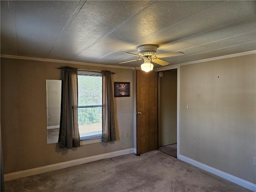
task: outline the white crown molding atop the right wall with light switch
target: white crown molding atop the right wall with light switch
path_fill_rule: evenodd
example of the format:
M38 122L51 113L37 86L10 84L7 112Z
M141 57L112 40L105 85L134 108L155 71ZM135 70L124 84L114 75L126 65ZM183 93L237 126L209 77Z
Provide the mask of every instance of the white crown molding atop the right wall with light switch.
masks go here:
M178 68L178 66L182 66L182 65L190 65L190 64L195 64L195 63L202 63L202 62L220 60L220 59L231 58L231 57L238 57L238 56L255 54L255 53L256 53L256 50L252 50L252 51L247 51L247 52L242 52L242 53L235 53L235 54L230 54L230 55L225 55L225 56L219 56L219 57L213 57L213 58L208 58L208 59L190 61L190 62L180 63L180 64L176 64L176 65L157 68L157 69L155 69L155 71L158 72L158 71L171 70L171 69L176 69L176 68Z

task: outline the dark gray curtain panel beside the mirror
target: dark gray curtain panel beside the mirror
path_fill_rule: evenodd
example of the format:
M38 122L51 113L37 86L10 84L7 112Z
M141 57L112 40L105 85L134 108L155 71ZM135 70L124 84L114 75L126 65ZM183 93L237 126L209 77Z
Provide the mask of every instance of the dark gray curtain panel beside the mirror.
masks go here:
M62 67L62 94L60 111L60 148L80 146L78 130L77 68Z

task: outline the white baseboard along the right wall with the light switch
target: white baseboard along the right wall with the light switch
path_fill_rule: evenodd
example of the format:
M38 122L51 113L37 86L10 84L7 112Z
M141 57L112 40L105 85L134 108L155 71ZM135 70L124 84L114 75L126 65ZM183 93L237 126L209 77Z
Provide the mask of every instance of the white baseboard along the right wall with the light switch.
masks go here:
M252 190L253 192L256 192L256 184L253 184L253 183L248 182L246 180L240 179L238 177L235 177L233 175L230 175L230 174L225 173L223 171L220 171L218 169L212 168L212 167L210 167L208 165L202 164L202 163L200 163L198 161L195 161L195 160L190 159L188 157L185 157L183 155L179 155L179 159L184 161L184 162L187 162L189 164L192 164L192 165L194 165L194 166L196 166L196 167L198 167L198 168L200 168L202 170L205 170L205 171L210 172L210 173L212 173L214 175L217 175L217 176L219 176L221 178L224 178L224 179L226 179L228 181L231 181L231 182L233 182L235 184L238 184L238 185L240 185L240 186L242 186L244 188Z

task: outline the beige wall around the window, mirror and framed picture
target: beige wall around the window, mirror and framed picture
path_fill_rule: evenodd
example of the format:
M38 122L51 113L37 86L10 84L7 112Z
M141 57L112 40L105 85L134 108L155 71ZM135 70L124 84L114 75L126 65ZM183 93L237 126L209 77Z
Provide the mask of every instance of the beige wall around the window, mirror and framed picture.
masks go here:
M131 82L130 97L114 98L117 141L60 149L47 144L46 79L60 79L57 67L110 70L112 81ZM1 132L5 173L134 147L133 70L1 58ZM128 138L124 138L128 132Z

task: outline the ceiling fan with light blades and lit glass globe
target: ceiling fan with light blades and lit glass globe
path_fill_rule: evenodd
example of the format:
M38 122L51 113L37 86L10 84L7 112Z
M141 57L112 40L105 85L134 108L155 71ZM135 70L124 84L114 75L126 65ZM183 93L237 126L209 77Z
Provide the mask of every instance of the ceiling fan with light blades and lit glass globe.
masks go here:
M140 57L139 59L131 60L131 61L126 61L126 62L121 62L122 63L128 63L128 62L133 62L137 60L142 60L144 59L144 63L140 66L142 70L149 72L153 70L154 65L151 62L154 62L156 64L165 66L168 65L169 62L166 62L164 60L161 60L160 58L163 57L173 57L173 56L180 56L184 55L182 52L172 52L172 53L163 53L163 54L156 54L157 46L156 45L142 45L138 47L139 54L133 54L133 53L128 53L121 51L123 53L131 54L133 56Z

